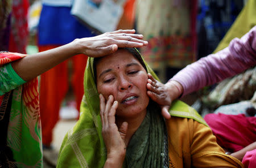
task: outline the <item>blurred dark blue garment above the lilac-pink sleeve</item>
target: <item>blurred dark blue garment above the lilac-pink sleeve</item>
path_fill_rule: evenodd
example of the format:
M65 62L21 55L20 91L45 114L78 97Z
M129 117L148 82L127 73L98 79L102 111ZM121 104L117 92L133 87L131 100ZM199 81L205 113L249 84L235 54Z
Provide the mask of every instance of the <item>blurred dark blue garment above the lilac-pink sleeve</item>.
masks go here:
M211 54L243 8L243 0L200 0L197 15L198 58Z

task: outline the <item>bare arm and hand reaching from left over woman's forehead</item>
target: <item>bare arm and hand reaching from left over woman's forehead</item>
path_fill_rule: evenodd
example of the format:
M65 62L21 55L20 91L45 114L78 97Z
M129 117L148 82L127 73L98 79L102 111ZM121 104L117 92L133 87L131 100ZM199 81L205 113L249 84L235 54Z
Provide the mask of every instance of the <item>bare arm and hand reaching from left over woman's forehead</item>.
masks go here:
M76 39L59 48L27 55L27 57L11 63L11 65L23 80L29 81L77 54L102 57L103 55L114 53L118 47L141 47L147 45L146 41L141 40L143 38L142 35L134 33L134 30L119 30L95 37Z

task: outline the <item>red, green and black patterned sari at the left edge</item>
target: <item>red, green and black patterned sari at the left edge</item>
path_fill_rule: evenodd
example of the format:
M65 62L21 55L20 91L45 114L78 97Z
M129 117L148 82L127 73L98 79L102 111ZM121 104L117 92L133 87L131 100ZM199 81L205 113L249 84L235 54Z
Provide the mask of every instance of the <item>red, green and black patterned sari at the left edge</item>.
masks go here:
M0 68L3 64L26 57L18 53L0 53ZM0 84L10 85L0 74ZM0 166L42 167L42 139L39 115L38 79L6 91L0 96Z

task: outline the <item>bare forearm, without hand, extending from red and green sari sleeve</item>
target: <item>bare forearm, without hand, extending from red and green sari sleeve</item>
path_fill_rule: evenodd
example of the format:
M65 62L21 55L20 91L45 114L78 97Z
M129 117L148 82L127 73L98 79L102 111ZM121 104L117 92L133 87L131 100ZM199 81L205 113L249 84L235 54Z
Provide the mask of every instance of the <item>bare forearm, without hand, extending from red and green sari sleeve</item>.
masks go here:
M75 42L71 42L59 48L27 55L11 65L23 80L29 81L76 54L79 53L77 53Z

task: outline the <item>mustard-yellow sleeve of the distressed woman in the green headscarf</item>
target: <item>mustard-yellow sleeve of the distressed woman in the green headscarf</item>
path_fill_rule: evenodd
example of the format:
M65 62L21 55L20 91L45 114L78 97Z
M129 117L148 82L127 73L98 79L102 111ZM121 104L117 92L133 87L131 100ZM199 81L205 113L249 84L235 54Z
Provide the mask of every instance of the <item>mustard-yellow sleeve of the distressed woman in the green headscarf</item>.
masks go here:
M192 123L191 161L193 167L243 167L237 158L225 154L209 127L195 120Z

